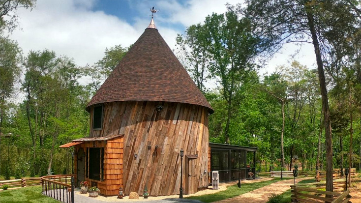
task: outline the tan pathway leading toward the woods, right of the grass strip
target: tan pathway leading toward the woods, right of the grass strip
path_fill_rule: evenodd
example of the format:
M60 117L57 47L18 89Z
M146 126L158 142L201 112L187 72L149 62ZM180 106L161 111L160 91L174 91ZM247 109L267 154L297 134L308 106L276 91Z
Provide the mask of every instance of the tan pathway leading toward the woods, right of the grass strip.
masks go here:
M301 180L309 179L310 177L306 178L297 178L296 183L300 182ZM282 180L270 185L258 188L251 192L245 193L243 195L229 198L226 200L217 201L214 203L266 203L268 201L268 197L271 194L282 194L286 190L291 189L290 185L294 184L293 179L289 180Z

